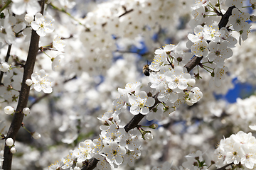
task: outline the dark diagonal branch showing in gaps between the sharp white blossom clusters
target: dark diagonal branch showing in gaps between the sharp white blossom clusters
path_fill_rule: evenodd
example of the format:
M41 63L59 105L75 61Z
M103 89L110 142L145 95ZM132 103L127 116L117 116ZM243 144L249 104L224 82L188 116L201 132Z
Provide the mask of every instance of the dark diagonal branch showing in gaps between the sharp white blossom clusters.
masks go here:
M229 7L228 11L223 16L221 16L220 23L218 24L219 29L223 28L223 27L225 27L227 25L228 18L229 18L229 16L231 16L233 8L235 8L235 6ZM202 59L203 59L203 57L196 57L195 56L184 67L186 67L188 72L190 72L194 67L196 67L201 62ZM157 95L155 95L154 98L156 100L157 99ZM156 100L156 102L154 103L154 106L156 106L157 104L159 104L158 100ZM152 108L154 108L154 106L151 107L150 110ZM140 113L138 115L134 115L132 120L130 120L129 123L127 123L127 125L124 126L125 131L128 132L129 130L131 130L133 128L136 128L136 126L142 120L142 118L144 118L144 116L145 115L142 115ZM93 158L93 159L95 159L95 158ZM94 164L91 164L92 167L95 167L97 165L97 159L95 159L95 160L96 161L93 162ZM86 166L86 168L82 168L82 170L85 170L85 169L91 169L91 167L88 165L88 166Z

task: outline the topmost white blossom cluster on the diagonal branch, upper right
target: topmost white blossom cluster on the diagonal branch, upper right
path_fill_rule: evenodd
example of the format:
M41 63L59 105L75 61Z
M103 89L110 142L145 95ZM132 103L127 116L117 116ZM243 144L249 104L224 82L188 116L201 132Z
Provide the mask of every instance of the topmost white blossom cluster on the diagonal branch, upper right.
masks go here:
M191 52L196 57L203 57L202 63L210 64L203 64L202 67L213 70L211 71L213 78L210 79L209 84L211 87L213 87L213 84L219 87L225 80L225 72L228 72L228 67L225 67L225 60L233 56L231 47L235 47L238 42L230 30L237 31L240 34L239 44L241 45L242 40L247 39L252 25L247 22L250 19L250 14L241 11L242 0L225 1L226 6L233 9L232 15L228 19L227 27L216 23L214 19L206 20L208 18L206 16L213 8L208 4L209 2L198 3L193 7L194 18L190 21L190 26L193 28L194 33L188 34L187 47L191 49ZM220 16L223 15L222 11L216 13L220 14Z

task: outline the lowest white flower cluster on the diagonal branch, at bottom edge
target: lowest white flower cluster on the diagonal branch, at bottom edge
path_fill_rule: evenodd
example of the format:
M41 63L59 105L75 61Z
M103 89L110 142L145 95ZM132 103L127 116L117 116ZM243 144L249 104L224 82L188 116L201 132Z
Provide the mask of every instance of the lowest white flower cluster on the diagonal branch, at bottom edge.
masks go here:
M117 168L120 164L134 166L134 160L141 155L142 143L139 141L139 130L125 132L117 123L120 122L116 113L106 112L102 118L101 135L95 140L80 142L78 149L70 150L70 154L61 159L61 162L52 164L49 169L68 169L82 167L82 162L94 157L98 160L98 169ZM76 162L73 165L74 161Z

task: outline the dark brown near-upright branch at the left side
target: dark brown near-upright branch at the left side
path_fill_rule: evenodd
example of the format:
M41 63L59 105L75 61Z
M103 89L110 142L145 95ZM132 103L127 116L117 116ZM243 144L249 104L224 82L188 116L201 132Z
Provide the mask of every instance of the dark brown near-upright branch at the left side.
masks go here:
M39 3L41 5L41 13L43 14L45 1L41 0ZM18 130L19 128L21 128L21 123L24 117L22 110L27 106L28 96L30 91L30 86L26 85L26 79L31 79L31 74L33 73L33 68L36 62L36 55L38 53L38 42L39 42L39 35L37 35L35 30L32 30L31 42L28 50L28 57L26 60L26 64L24 66L21 92L18 98L18 106L16 108L16 113L14 114L14 118L11 122L9 131L7 132L6 139L11 137L15 141ZM11 162L12 162L12 154L10 152L9 147L5 146L3 169L11 170Z

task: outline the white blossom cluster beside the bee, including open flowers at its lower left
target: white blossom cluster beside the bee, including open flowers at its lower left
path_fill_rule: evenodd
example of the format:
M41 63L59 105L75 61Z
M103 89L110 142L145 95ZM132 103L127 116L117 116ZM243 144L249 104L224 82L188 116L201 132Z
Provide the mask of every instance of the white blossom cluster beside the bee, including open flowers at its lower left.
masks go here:
M117 113L130 106L129 111L133 115L141 113L146 115L147 120L160 120L163 113L169 115L181 103L186 102L191 106L203 97L200 89L193 87L196 80L181 67L182 61L189 60L189 55L176 52L176 47L166 45L156 50L154 61L149 65L151 72L148 86L140 90L142 83L135 82L126 84L125 89L118 89L120 97L113 102ZM180 62L175 62L177 60ZM155 103L157 107L154 107Z

